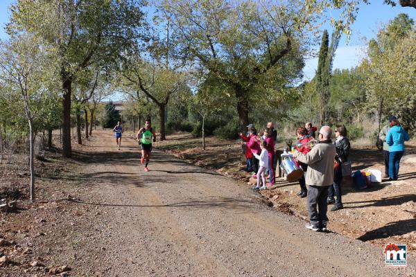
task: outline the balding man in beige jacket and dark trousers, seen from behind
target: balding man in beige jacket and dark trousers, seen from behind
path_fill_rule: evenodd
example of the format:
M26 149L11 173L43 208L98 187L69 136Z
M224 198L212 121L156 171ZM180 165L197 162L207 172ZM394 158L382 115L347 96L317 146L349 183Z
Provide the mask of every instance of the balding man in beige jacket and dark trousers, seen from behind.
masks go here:
M328 187L333 184L333 159L336 155L331 134L329 126L322 126L318 134L319 143L311 152L303 154L295 151L294 154L297 161L308 165L306 184L309 186L307 206L310 222L306 224L306 229L313 231L327 231Z

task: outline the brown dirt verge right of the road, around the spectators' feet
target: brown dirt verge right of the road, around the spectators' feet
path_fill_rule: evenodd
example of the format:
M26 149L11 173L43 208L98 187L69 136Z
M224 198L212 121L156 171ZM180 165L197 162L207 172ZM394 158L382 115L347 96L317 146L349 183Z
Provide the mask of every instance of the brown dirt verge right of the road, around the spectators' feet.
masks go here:
M222 175L239 179L248 184L250 175L245 172L245 160L239 141L207 138L206 151L202 151L201 139L190 134L173 134L159 143L158 148L174 154L196 166L216 170ZM280 143L276 149L283 148ZM416 143L406 143L405 154L416 153ZM350 158L352 170L377 169L384 172L383 153L376 148L352 146ZM276 185L262 191L261 195L279 211L306 219L306 199L297 197L300 186L297 181L289 183L282 178ZM355 190L352 178L342 184L344 209L329 211L332 231L362 241L383 246L389 242L407 244L416 250L416 164L401 163L398 181L372 183L365 190ZM331 208L331 205L329 206Z

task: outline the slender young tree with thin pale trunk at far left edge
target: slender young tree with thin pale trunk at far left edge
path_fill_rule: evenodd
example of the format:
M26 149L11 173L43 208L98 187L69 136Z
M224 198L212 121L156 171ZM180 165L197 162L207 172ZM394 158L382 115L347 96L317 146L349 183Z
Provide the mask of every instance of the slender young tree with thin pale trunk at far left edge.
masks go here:
M23 103L29 127L29 166L31 171L30 195L35 199L34 134L35 119L44 100L51 97L53 69L42 42L32 35L12 36L10 42L1 44L0 76L17 93Z

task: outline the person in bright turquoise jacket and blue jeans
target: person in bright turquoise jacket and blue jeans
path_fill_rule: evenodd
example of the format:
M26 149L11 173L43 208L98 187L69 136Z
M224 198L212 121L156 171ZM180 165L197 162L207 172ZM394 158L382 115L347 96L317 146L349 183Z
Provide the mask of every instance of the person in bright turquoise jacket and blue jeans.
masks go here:
M401 127L399 120L393 119L390 122L390 130L385 137L388 144L388 177L389 181L396 181L399 176L401 157L404 154L404 141L409 141L408 133Z

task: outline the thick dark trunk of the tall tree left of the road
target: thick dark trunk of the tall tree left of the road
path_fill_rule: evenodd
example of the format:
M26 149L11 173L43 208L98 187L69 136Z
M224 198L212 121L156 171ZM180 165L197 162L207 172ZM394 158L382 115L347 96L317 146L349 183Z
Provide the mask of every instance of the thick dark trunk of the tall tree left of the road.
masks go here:
M65 73L61 73L65 74ZM62 150L64 157L71 158L71 84L72 80L64 78L62 82L62 89L64 91L64 98L62 100Z

